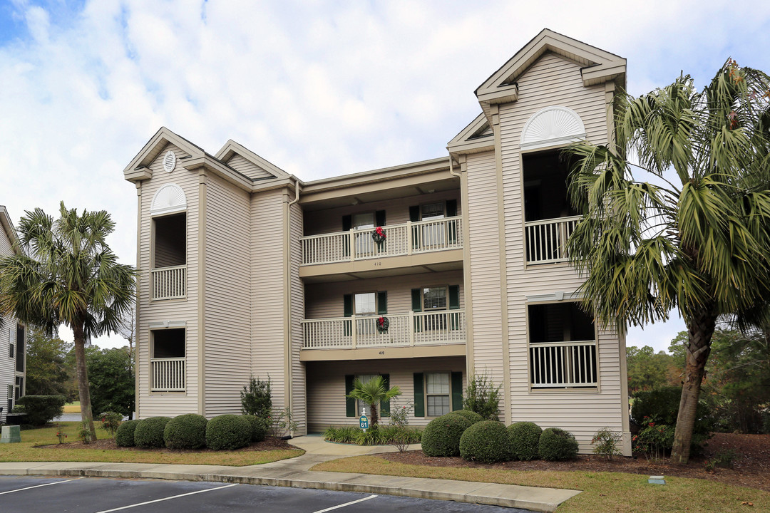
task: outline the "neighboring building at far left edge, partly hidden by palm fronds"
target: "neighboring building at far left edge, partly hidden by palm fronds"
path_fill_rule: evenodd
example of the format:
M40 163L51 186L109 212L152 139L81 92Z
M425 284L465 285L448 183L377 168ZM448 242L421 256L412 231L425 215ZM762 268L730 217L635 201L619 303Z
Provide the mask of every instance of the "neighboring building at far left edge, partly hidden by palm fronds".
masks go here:
M0 257L18 252L18 238L11 217L0 205ZM16 399L24 395L26 358L24 325L14 317L3 317L0 326L0 421L5 421L5 415L11 411Z

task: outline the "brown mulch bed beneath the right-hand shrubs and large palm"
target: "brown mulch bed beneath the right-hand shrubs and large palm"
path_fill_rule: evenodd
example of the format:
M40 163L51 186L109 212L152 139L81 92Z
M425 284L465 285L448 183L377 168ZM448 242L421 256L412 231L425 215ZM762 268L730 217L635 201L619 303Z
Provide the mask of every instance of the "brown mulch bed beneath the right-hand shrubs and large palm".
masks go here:
M705 470L705 462L718 451L732 450L737 457L733 468ZM708 479L729 485L745 486L770 491L770 435L735 435L715 433L708 440L705 455L691 458L688 465L675 465L668 459L648 461L643 455L636 458L616 456L611 460L594 455L579 455L574 461L505 461L492 465L465 461L463 458L430 458L422 451L387 452L373 455L388 461L408 465L432 467L494 468L506 470L552 470L626 472L628 474L664 475L681 478Z

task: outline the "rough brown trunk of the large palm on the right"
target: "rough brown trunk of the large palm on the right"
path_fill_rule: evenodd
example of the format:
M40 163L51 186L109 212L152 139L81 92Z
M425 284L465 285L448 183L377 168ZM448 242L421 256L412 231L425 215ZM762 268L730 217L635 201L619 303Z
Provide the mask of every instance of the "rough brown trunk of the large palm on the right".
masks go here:
M714 335L717 316L710 311L695 315L688 323L688 343L685 359L685 381L682 382L679 413L674 432L671 460L681 465L690 459L692 429L697 418L701 381L711 352L711 335Z

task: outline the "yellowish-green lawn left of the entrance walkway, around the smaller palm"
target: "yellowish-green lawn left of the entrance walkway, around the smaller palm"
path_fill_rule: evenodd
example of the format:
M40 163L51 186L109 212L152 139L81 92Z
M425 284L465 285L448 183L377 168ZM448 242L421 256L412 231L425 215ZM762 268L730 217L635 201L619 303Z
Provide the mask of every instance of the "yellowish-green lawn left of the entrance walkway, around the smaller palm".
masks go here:
M97 423L98 424L98 423ZM77 440L79 422L61 422L67 441ZM259 465L286 458L295 458L304 451L299 449L276 451L217 451L217 452L157 452L152 450L126 451L89 448L39 448L35 445L58 444L52 426L22 431L18 444L0 444L0 461L115 461L123 463L178 463L186 465ZM109 438L103 429L96 429L98 438Z

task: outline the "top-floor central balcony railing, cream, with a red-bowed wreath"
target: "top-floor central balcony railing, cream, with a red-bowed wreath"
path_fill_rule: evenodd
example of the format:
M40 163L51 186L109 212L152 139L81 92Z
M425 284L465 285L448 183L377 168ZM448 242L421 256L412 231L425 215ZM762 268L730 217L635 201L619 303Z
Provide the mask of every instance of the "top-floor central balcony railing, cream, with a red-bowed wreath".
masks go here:
M383 226L385 240L374 242L375 228L301 237L302 264L330 264L463 247L462 218L432 219Z

